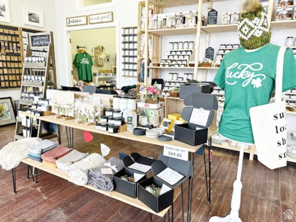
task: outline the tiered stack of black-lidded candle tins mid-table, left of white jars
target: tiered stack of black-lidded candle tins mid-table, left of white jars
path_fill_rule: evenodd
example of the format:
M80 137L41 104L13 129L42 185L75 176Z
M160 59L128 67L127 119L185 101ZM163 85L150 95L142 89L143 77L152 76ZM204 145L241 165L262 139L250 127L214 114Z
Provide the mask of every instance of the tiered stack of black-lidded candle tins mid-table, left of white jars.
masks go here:
M109 133L118 133L119 127L125 124L120 110L112 108L105 110L105 115L101 117L101 123L96 124L96 129L108 131Z

